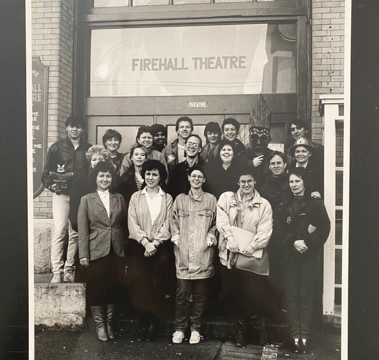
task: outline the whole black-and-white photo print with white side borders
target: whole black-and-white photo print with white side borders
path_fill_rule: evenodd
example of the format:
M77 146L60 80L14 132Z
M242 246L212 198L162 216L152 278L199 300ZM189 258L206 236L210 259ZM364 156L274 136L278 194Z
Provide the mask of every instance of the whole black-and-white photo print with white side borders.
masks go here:
M34 359L347 359L345 1L26 8Z

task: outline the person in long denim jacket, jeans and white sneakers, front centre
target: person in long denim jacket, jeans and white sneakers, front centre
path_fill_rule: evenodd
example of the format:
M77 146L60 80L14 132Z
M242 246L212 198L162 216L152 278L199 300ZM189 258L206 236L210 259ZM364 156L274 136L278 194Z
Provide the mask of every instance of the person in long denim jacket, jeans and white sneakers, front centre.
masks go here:
M205 173L199 164L189 169L188 180L189 192L176 197L170 218L177 278L175 332L172 336L174 344L184 339L191 293L193 310L189 344L200 342L199 331L210 287L209 278L215 275L213 246L217 244L216 198L203 192Z

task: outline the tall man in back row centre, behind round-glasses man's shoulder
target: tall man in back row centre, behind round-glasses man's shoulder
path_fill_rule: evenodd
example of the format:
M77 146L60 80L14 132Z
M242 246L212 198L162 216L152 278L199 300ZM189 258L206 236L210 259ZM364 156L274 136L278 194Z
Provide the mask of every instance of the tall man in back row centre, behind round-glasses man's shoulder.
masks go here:
M192 119L188 116L180 116L176 120L175 131L178 134L178 138L162 150L162 154L166 158L167 167L169 169L169 178L171 177L172 168L176 164L182 163L185 160L184 149L186 139L191 136L193 131Z

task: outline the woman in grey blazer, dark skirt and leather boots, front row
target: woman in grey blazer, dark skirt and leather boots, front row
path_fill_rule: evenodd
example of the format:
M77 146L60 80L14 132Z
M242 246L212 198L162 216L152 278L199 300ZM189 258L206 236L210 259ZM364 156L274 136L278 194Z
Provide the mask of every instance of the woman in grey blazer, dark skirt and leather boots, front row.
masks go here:
M83 196L78 211L79 259L88 267L87 298L101 341L114 339L112 328L124 257L125 201L110 187L116 179L113 164L100 162L92 173L93 192Z

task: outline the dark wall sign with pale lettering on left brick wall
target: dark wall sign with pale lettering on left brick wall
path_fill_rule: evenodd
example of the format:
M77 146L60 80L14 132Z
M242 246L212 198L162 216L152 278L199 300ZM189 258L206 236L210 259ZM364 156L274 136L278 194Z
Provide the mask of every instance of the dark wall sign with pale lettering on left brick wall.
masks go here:
M39 56L32 58L33 97L33 197L43 190L41 175L47 154L49 66L43 65Z

